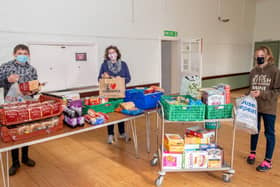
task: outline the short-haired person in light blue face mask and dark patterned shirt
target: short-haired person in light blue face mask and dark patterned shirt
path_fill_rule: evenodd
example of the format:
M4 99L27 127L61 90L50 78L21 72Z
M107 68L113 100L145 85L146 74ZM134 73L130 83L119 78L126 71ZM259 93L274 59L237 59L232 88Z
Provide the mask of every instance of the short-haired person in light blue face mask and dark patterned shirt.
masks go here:
M26 45L19 44L14 48L14 60L4 63L0 66L0 87L4 88L4 97L7 95L13 83L23 83L37 80L36 69L29 64L29 48ZM34 93L28 93L33 95ZM15 175L20 167L19 150L12 150L13 164L9 170L10 176ZM35 162L28 157L28 147L22 148L22 163L33 167Z

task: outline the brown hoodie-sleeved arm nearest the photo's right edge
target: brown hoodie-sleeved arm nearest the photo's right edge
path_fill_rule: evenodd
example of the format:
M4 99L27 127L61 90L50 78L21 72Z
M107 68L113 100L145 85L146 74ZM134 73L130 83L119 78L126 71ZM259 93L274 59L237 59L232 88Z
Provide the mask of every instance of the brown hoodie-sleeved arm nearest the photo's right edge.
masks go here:
M260 93L262 99L271 99L280 95L280 71L277 70L274 75L272 89Z

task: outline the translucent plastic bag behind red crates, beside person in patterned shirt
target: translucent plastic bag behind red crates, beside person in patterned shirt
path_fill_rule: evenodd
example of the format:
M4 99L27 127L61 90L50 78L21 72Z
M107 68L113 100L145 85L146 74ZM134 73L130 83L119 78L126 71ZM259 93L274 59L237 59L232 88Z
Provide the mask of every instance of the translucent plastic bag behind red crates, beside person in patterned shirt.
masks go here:
M19 89L18 83L13 83L4 99L5 103L23 102L33 100L31 96L23 95Z

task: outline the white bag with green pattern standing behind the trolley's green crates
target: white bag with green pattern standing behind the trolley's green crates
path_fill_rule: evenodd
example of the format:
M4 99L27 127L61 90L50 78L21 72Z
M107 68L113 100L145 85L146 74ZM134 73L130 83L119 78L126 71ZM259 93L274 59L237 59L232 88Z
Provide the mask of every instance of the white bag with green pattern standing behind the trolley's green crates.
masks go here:
M194 98L199 96L201 80L198 75L183 76L181 80L180 95L190 95Z

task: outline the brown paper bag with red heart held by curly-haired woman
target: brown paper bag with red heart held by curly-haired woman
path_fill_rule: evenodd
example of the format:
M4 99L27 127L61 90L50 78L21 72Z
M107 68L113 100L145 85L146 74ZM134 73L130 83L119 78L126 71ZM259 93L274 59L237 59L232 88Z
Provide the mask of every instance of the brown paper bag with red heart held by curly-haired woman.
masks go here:
M125 97L125 80L121 77L102 78L99 80L99 95L108 98Z

